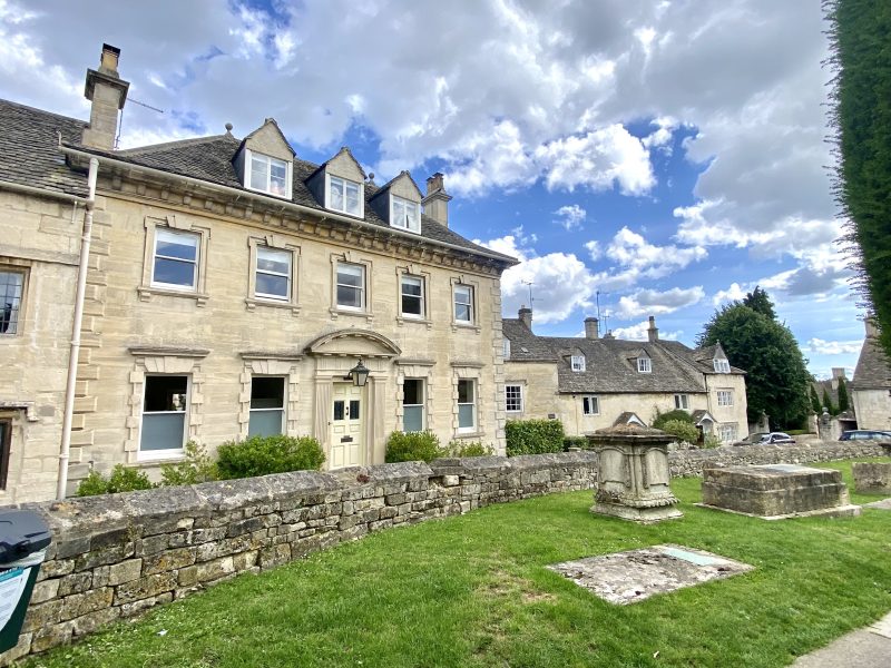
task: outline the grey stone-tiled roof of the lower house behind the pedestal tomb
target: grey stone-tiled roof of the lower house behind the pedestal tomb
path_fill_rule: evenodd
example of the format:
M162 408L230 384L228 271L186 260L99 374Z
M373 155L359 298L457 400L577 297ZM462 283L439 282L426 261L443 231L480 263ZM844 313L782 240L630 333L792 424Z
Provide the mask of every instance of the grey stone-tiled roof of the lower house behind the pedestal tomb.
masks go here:
M536 336L519 318L503 318L502 328L510 340L510 362L557 363L558 392L702 393L703 373L714 373L711 363L696 363L697 352L676 341ZM650 373L637 371L636 357L643 353L652 360ZM571 370L572 354L585 355L585 371Z

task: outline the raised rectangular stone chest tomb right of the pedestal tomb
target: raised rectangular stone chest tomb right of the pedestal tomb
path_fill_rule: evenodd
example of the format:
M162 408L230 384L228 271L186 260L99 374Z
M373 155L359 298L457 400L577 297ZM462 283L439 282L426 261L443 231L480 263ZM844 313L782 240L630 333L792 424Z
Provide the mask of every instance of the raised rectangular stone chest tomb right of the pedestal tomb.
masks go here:
M840 471L797 464L705 469L699 505L765 520L860 514Z

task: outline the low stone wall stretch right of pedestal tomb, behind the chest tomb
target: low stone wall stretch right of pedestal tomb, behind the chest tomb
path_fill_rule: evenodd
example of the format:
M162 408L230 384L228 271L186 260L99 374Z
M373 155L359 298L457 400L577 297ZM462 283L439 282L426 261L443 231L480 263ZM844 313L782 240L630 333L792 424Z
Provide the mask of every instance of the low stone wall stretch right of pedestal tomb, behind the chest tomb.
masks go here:
M676 450L668 453L673 477L702 475L706 464L738 466L744 464L809 464L860 456L891 454L891 443L878 441L828 441L795 445L727 445L713 450Z

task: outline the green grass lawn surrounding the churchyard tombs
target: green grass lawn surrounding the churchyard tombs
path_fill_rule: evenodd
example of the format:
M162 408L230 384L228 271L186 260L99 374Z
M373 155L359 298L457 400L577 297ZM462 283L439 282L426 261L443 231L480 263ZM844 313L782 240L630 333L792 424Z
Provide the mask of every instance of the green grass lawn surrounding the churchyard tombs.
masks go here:
M850 463L826 466L853 489ZM891 610L891 512L766 522L695 508L699 479L672 487L682 520L595 517L590 492L492 505L242 576L26 665L774 667ZM623 607L544 568L665 542L756 568Z

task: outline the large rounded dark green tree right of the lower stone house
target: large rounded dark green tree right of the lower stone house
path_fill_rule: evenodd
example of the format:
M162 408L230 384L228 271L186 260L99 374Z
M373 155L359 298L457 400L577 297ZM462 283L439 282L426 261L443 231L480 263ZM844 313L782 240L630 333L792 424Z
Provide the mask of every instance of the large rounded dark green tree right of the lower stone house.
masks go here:
M763 298L748 294L746 298L762 306L765 301L770 304L766 294ZM733 302L715 312L697 338L701 346L718 342L731 364L747 372L750 422L766 413L781 429L804 424L811 374L789 327L744 302Z

